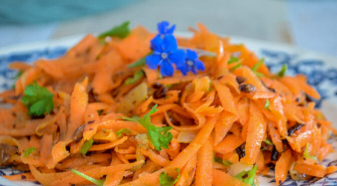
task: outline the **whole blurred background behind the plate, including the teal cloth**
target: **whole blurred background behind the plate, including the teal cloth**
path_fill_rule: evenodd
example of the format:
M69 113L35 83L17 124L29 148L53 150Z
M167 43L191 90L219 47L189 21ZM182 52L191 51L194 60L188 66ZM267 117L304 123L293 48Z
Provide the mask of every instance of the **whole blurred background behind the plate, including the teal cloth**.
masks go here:
M131 20L155 31L205 23L210 30L337 56L337 0L0 0L0 46L100 33Z

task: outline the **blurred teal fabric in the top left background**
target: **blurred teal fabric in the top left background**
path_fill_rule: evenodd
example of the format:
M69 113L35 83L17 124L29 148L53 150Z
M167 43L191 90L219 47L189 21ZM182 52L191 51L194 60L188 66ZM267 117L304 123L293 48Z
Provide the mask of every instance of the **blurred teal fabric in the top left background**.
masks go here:
M114 10L134 0L0 0L0 25L59 21Z

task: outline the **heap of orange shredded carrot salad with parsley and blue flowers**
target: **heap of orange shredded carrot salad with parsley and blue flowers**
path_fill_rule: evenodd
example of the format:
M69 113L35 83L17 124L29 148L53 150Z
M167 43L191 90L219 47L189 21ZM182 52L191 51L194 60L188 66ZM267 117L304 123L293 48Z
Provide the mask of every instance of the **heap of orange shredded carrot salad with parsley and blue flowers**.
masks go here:
M25 63L0 94L1 166L42 185L259 185L303 180L337 134L302 74L272 73L244 44L199 23L152 33L126 21L63 56Z

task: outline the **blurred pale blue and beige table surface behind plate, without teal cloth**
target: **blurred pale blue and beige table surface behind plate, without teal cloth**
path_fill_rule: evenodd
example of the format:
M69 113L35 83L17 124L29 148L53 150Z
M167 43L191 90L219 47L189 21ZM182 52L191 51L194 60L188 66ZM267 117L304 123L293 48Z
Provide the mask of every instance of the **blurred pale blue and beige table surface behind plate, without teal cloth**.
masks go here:
M118 9L39 25L0 25L0 46L72 34L99 33L124 20L155 31L168 20L177 30L198 21L218 33L286 42L337 56L335 0L138 0Z

